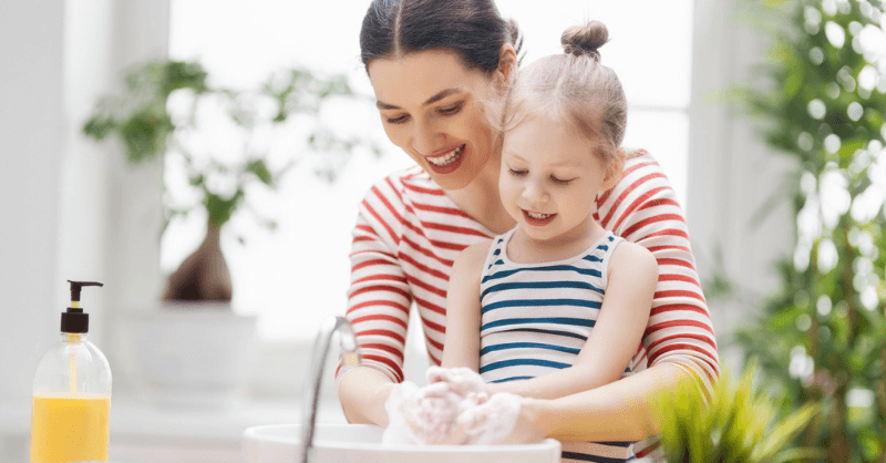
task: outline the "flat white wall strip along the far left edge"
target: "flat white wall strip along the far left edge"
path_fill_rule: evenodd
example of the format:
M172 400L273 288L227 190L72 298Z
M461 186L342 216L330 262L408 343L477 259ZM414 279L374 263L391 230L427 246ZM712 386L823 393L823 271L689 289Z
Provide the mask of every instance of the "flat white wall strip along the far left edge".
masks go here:
M64 116L62 0L0 4L0 398L30 398L59 331L55 281Z

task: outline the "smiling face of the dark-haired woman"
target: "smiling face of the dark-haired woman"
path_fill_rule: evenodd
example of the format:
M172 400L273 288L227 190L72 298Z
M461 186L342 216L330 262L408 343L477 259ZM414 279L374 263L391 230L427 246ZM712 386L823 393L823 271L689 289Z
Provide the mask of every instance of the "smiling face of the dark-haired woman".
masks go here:
M498 133L482 101L490 79L467 70L450 51L425 50L369 64L384 132L443 189L461 189L484 168L497 175Z

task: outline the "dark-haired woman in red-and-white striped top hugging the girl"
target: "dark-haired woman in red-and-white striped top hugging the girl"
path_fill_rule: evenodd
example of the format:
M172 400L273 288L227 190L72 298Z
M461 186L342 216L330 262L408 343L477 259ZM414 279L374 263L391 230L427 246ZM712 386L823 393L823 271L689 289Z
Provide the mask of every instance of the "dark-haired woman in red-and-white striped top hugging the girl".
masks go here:
M413 301L429 354L440 364L453 260L515 225L498 198L502 140L484 107L511 82L517 37L492 0L374 0L367 12L362 60L382 124L418 166L378 183L354 228L348 318L364 367L338 373L351 422L387 424L384 402L403 380ZM692 379L710 390L719 373L686 220L659 165L643 151L631 153L621 179L596 205L604 228L645 246L659 265L631 363L636 373L578 394L527 401L513 441L641 440L655 428L652 398ZM647 452L643 444L637 449L638 456Z

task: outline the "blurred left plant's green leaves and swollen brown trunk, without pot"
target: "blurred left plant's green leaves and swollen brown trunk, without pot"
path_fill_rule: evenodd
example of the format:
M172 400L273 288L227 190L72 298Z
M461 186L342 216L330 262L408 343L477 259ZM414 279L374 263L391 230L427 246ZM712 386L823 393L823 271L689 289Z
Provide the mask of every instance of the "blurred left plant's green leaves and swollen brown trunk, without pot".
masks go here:
M206 214L206 238L169 277L164 300L230 301L230 276L219 246L222 228L241 209L268 228L276 226L249 207L255 188L274 189L287 169L310 154L322 154L324 164L316 173L329 181L356 148L365 146L378 154L372 143L342 136L319 122L323 103L332 99L360 97L343 75L321 78L288 69L258 89L235 91L212 86L198 62L159 61L133 68L125 75L123 93L96 104L83 126L86 136L116 138L132 164L165 158L184 166L187 178L181 183L189 189L185 198L175 197L164 175L164 230L176 217L195 210ZM207 115L216 125L222 119L222 128L208 126ZM213 152L217 146L207 148L195 137L207 132L209 137L231 140L235 155L219 155ZM289 150L295 155L272 153L267 140L279 133L303 138L300 147Z

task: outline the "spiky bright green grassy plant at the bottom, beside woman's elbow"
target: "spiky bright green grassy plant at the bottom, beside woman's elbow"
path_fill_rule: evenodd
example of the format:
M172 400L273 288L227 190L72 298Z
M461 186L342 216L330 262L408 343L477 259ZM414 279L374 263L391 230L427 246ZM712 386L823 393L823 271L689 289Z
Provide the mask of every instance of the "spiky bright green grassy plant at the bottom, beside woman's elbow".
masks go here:
M697 384L683 383L656 402L661 420L661 452L669 462L779 463L820 456L822 451L792 445L816 404L785 414L779 400L754 385L755 364L733 382L721 375L709 401Z

